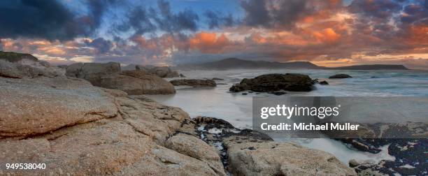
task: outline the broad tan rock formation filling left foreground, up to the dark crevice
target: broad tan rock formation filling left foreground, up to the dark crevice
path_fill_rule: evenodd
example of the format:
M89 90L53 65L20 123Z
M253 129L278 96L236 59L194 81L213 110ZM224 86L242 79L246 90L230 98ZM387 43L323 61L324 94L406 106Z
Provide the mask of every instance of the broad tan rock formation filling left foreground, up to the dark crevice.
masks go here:
M0 77L0 87L0 165L46 166L0 175L225 175L213 148L174 137L190 120L179 108L62 76Z

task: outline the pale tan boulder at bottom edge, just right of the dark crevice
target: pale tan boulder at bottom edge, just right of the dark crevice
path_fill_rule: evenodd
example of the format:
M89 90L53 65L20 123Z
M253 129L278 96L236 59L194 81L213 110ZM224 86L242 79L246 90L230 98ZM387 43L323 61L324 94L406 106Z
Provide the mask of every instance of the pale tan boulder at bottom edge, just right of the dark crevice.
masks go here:
M226 143L236 175L356 175L327 152L290 142Z

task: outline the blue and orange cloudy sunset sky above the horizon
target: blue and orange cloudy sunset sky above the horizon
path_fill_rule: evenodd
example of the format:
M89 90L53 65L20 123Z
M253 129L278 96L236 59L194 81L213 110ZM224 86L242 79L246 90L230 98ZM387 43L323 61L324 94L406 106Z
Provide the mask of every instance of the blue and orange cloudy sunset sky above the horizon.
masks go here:
M428 69L428 0L5 0L0 50L52 64L228 57Z

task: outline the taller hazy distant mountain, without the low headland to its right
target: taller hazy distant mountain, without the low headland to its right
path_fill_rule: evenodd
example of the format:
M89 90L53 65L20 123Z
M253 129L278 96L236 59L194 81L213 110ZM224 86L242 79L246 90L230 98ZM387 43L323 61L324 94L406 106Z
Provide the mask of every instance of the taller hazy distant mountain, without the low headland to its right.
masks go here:
M256 69L256 68L322 68L309 61L291 61L291 62L276 62L276 61L249 61L238 58L227 58L220 61L211 61L203 64L187 64L180 65L178 68L192 69L208 69L208 70L229 70L229 69Z

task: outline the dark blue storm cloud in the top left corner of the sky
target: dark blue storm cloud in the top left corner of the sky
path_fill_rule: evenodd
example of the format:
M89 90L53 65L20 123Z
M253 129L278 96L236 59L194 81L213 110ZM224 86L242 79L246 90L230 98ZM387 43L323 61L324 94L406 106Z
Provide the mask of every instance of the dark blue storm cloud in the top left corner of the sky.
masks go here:
M0 2L0 38L44 38L71 40L89 36L101 24L101 17L111 0L85 1L90 13L76 16L59 1Z

